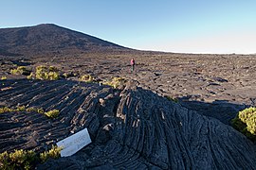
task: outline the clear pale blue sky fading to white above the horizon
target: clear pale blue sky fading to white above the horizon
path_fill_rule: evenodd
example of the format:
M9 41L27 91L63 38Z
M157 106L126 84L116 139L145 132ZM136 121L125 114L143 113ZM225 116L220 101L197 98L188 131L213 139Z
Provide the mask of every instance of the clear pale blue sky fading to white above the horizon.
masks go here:
M1 0L0 27L52 23L123 46L256 53L256 0Z

